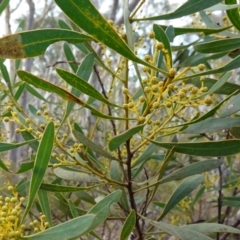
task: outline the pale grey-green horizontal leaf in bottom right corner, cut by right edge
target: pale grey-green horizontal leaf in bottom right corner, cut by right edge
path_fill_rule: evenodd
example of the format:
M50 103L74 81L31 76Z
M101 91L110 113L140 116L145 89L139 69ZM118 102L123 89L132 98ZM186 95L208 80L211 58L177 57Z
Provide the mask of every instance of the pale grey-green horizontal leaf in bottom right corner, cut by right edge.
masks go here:
M230 232L239 234L240 230L237 228L233 228L224 224L219 223L198 223L198 224L189 224L185 226L181 226L180 228L189 229L196 232Z

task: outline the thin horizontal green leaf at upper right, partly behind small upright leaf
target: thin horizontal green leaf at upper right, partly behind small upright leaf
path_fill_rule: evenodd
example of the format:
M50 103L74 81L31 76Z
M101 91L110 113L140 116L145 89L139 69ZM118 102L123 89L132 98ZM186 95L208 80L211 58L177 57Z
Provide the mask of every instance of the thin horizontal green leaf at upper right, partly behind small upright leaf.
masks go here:
M159 26L163 30L166 30L168 27L165 25L159 25ZM228 28L230 28L230 26L224 27L224 28L177 28L177 27L174 27L174 33L175 33L175 36L187 34L187 33L204 33L205 35L210 35L210 34L222 32Z

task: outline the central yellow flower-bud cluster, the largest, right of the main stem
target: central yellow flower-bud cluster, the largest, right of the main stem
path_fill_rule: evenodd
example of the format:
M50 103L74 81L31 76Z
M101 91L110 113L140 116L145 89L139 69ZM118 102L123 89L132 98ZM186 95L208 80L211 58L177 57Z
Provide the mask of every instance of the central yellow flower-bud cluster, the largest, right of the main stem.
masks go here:
M174 127L177 127L179 122L182 123L198 116L199 106L209 106L213 101L211 96L206 94L208 88L204 84L204 77L199 80L200 87L184 80L189 71L204 71L205 65L199 64L195 67L177 70L171 66L171 56L164 44L154 38L153 32L149 33L149 37L155 44L154 53L153 56L145 55L144 60L155 65L159 54L162 53L167 71L164 76L155 69L143 67L145 75L141 80L143 92L136 99L131 90L124 87L122 93L128 101L123 104L123 108L137 118L138 124L150 125L147 130L148 136L149 134L156 136L156 133L168 135L177 132L178 129ZM186 107L191 108L191 114L185 114Z

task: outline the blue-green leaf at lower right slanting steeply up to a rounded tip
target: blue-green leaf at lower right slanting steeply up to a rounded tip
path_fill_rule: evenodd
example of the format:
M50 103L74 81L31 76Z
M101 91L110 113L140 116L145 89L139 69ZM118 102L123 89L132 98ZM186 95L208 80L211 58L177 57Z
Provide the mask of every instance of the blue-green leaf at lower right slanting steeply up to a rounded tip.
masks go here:
M204 177L199 174L183 180L168 200L165 208L162 211L161 216L158 218L158 221L162 220L175 205L177 205L183 198L188 196L203 181Z

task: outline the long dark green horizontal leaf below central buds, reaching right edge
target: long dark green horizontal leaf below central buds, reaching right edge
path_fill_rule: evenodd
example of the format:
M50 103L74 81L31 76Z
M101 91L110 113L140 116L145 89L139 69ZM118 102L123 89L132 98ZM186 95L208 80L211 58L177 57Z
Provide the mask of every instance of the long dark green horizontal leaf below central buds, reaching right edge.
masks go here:
M175 147L176 152L193 156L228 156L240 152L240 140L225 140L216 142L164 143L148 139L148 141L166 148Z

